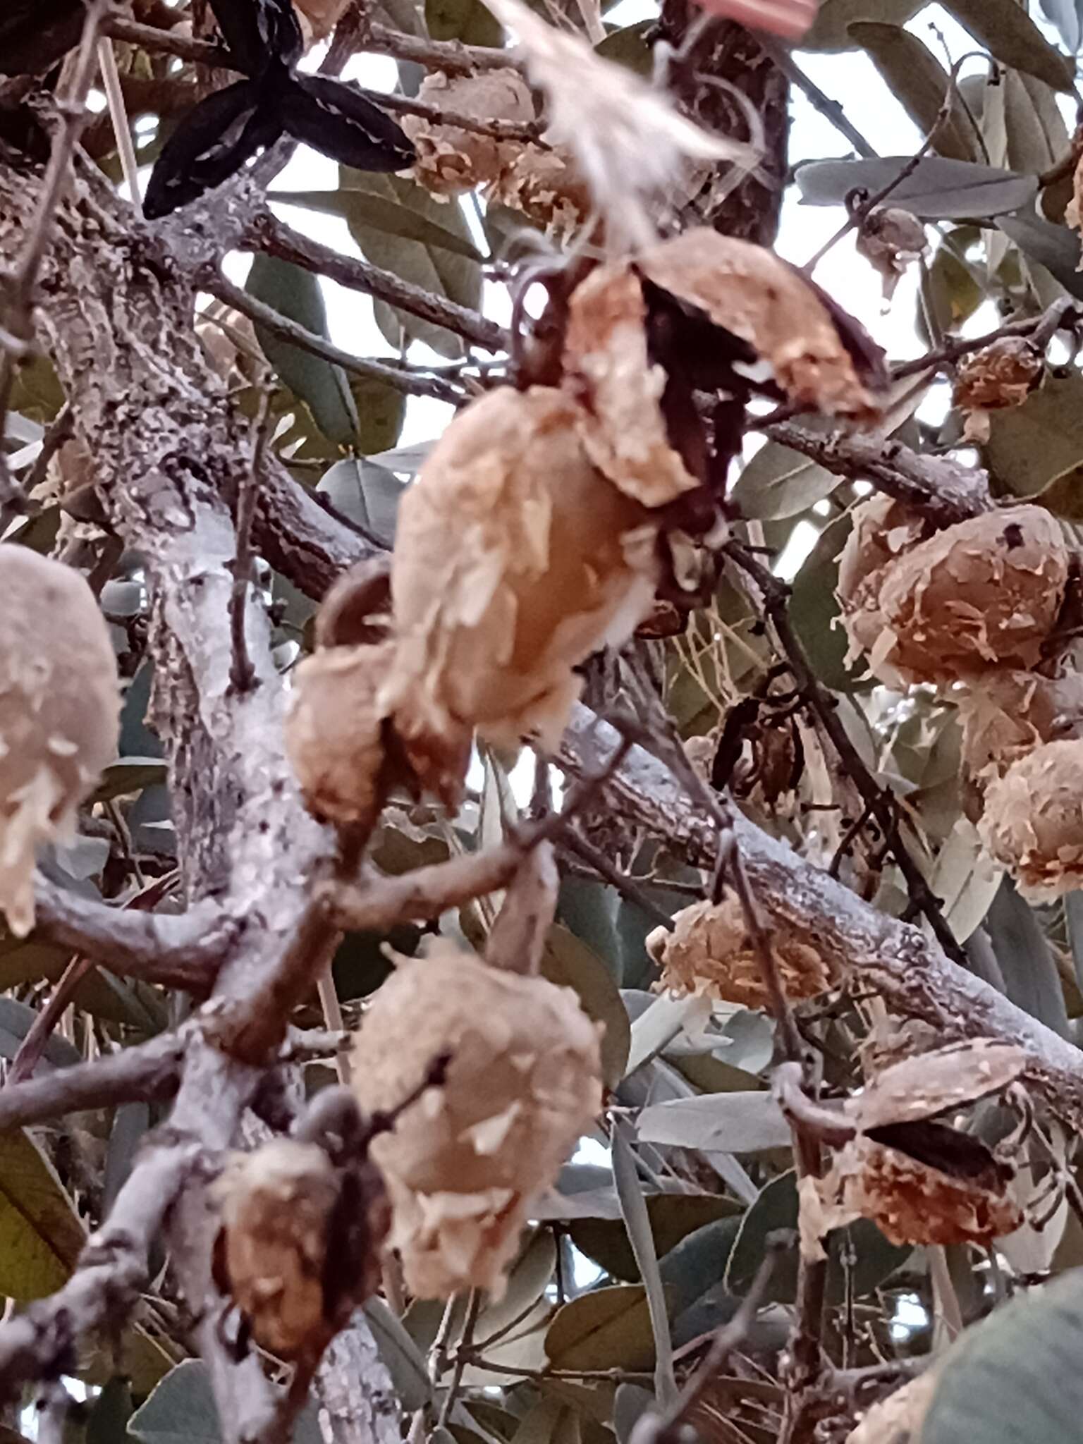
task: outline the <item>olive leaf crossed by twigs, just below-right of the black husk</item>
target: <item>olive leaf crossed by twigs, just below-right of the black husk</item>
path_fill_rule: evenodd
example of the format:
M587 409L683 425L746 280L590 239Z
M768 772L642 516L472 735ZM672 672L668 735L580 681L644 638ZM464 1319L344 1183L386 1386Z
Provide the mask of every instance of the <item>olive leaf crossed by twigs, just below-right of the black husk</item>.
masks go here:
M469 227L456 201L440 205L427 191L404 176L368 175L360 170L342 169L342 182L351 191L383 196L397 205L416 211L443 230L469 240ZM481 264L466 256L455 256L446 245L426 245L422 241L404 241L397 235L370 225L362 215L348 221L349 234L361 247L367 260L394 271L403 280L436 296L446 296L461 306L477 310L481 305ZM449 360L464 354L462 339L443 326L404 310L377 303L375 319L391 345L399 347L403 332L412 341L425 341L433 351Z

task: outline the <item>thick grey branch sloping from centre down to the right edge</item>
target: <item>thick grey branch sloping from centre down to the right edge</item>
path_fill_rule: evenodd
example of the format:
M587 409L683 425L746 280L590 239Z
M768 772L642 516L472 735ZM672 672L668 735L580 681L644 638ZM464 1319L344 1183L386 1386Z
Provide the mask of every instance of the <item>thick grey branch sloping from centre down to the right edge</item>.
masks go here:
M575 774L596 770L618 734L578 706L562 744L562 762ZM690 862L712 866L716 835L695 810L671 773L643 748L632 748L611 777L612 806ZM1032 1056L1028 1079L1050 1108L1073 1128L1083 1125L1083 1053L1017 1008L1002 993L949 962L926 934L900 923L799 858L741 813L734 827L741 856L780 926L807 939L849 979L878 989L891 1008L931 1022L944 1041L995 1037L1021 1043Z

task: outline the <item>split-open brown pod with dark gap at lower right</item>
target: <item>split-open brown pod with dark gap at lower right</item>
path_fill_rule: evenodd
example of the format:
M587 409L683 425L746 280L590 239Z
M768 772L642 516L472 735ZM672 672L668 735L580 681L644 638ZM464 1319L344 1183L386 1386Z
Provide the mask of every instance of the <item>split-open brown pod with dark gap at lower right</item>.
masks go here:
M878 1073L849 1099L858 1135L822 1178L801 1181L801 1246L853 1219L872 1219L892 1243L988 1243L1022 1222L1011 1171L978 1138L936 1122L1004 1092L1025 1048L993 1038L949 1044Z

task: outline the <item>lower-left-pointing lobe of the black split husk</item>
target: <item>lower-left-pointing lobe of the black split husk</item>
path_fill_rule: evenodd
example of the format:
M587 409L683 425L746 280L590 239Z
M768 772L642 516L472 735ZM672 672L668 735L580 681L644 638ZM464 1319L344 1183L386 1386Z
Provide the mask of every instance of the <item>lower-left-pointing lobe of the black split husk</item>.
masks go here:
M280 134L282 123L271 105L260 105L254 81L215 91L180 121L157 157L143 214L153 221L198 201Z

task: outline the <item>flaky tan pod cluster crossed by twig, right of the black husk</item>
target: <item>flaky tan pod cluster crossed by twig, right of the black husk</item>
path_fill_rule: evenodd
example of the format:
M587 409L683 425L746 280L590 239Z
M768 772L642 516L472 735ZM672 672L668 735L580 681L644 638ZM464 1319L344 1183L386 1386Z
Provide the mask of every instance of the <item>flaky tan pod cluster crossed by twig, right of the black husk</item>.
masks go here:
M511 120L520 124L534 120L530 87L511 68L455 77L435 71L422 82L417 100L472 120ZM426 116L404 116L403 130L417 152L414 176L433 195L442 196L491 185L523 149L516 142L438 124Z

